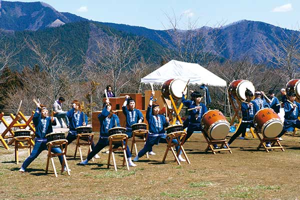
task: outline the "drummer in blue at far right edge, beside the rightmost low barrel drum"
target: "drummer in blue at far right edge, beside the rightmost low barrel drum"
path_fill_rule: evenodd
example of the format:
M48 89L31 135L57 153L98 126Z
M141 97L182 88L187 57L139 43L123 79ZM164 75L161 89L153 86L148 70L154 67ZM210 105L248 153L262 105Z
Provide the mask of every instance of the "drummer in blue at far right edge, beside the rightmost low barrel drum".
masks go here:
M296 93L293 91L290 91L287 93L287 100L283 104L284 108L284 123L283 123L283 129L278 135L280 138L286 131L293 131L294 128L300 128L300 120L298 119L298 116L300 114L300 103L295 101Z

